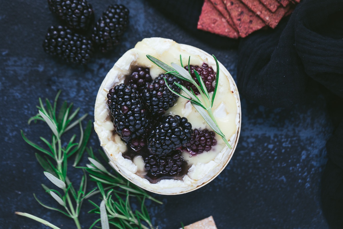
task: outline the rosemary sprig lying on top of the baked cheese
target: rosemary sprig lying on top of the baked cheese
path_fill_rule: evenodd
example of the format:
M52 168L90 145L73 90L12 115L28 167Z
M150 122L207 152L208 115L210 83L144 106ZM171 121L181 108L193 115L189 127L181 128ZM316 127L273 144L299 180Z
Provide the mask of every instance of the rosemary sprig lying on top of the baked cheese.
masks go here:
M200 113L200 115L204 118L204 120L206 121L206 123L209 124L209 126L218 134L222 137L223 141L225 142L225 144L229 147L229 149L232 149L232 147L230 146L229 142L227 141L225 135L223 134L223 132L221 131L217 121L215 120L215 117L213 115L212 112L212 106L214 103L214 98L217 92L217 88L218 88L218 81L219 81L219 64L217 59L215 58L214 55L212 55L215 62L216 62L216 67L217 67L217 73L216 73L216 80L215 80L215 88L212 94L212 99L210 98L210 95L205 87L204 82L202 81L201 77L199 76L198 72L194 70L194 73L197 77L197 80L199 82L199 85L197 84L197 82L192 78L192 76L190 75L190 57L188 58L188 71L186 69L184 69L184 65L182 63L182 58L180 55L180 64L181 66L172 63L171 66L168 66L167 64L163 63L161 60L156 59L155 57L152 57L150 55L146 55L146 57L151 60L154 64L156 64L158 67L162 68L163 70L167 71L167 73L170 73L173 76L176 76L179 79L182 80L186 80L190 83L192 83L200 92L201 95L201 100L200 98L193 92L193 90L191 89L191 91L189 91L186 87L184 87L183 85L174 82L174 84L179 87L182 91L184 91L190 98L187 98L184 95L181 95L180 93L173 91L173 89L171 89L166 81L166 79L164 79L166 81L166 85L168 87L168 89L173 92L174 94L185 98L187 100L191 101L191 104L194 106L194 108L196 108L196 110Z

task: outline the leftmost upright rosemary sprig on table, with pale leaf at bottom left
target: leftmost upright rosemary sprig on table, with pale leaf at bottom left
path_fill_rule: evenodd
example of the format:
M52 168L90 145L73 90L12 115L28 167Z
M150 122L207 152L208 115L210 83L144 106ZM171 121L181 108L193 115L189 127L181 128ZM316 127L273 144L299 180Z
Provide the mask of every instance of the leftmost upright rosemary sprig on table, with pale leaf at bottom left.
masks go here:
M75 222L76 228L81 229L78 217L80 214L82 203L85 198L90 196L92 192L95 191L95 188L92 191L86 193L87 179L86 174L84 173L80 182L79 190L76 191L67 176L67 160L73 154L76 154L74 166L76 166L81 160L91 134L92 122L89 121L87 123L87 127L85 130L83 130L82 128L81 121L86 117L86 115L83 115L81 118L78 118L76 119L76 121L72 122L75 116L78 114L80 108L71 113L73 105L68 105L67 102L63 103L59 113L57 114L57 100L60 93L61 91L57 93L53 106L48 99L46 99L46 106L44 106L42 99L39 98L40 106L37 106L38 114L30 118L28 121L28 123L31 123L32 121L36 122L37 120L40 120L45 122L49 126L52 131L51 142L49 142L46 138L40 137L40 139L46 144L47 149L28 140L23 131L21 131L21 134L23 139L29 145L31 145L38 151L46 154L46 156L43 157L40 154L36 153L37 161L45 170L44 175L53 184L60 188L62 192L57 191L56 189L48 188L44 184L42 184L42 187L52 198L55 199L58 204L62 206L62 209L64 208L64 210L43 204L34 194L35 199L43 207L59 211L60 213L72 218ZM78 124L81 131L79 142L75 142L76 135L74 134L70 138L68 143L62 144L62 135ZM62 147L62 145L65 145L65 147ZM30 214L16 214L32 218L52 228L58 228L55 225L52 225L49 222Z

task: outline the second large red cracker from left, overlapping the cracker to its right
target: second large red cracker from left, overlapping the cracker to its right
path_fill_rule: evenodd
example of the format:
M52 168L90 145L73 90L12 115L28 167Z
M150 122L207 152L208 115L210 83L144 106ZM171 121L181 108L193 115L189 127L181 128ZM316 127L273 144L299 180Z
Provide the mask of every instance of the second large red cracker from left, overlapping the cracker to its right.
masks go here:
M264 22L239 0L223 0L223 2L241 37L246 37L265 26Z

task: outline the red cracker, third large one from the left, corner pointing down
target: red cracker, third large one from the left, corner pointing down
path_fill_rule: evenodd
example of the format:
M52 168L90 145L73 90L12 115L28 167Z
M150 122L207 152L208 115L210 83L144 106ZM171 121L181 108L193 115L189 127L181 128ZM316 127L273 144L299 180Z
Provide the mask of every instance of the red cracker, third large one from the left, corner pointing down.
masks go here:
M283 16L288 12L287 7L280 7L274 13L270 12L259 0L241 0L247 7L255 12L264 22L272 28L279 24Z

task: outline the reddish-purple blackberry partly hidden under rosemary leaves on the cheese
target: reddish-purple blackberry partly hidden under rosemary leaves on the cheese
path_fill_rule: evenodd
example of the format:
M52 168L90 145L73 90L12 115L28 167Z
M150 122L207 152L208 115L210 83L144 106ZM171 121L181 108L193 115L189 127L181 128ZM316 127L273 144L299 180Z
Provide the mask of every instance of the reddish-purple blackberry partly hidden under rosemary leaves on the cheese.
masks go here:
M213 84L214 84L214 81L216 78L215 77L216 72L213 70L213 68L209 67L209 65L206 63L203 63L201 67L199 67L198 65L196 65L196 66L190 65L189 67L191 69L190 70L191 76L197 82L197 84L200 85L197 77L195 76L194 71L198 72L199 76L201 77L202 81L205 84L207 91L209 93L213 92L214 91L214 85ZM186 66L185 69L188 71L188 66ZM192 88L193 92L196 95L200 94L198 89L192 83L185 81L185 80L182 80L182 83L188 90L190 90Z

